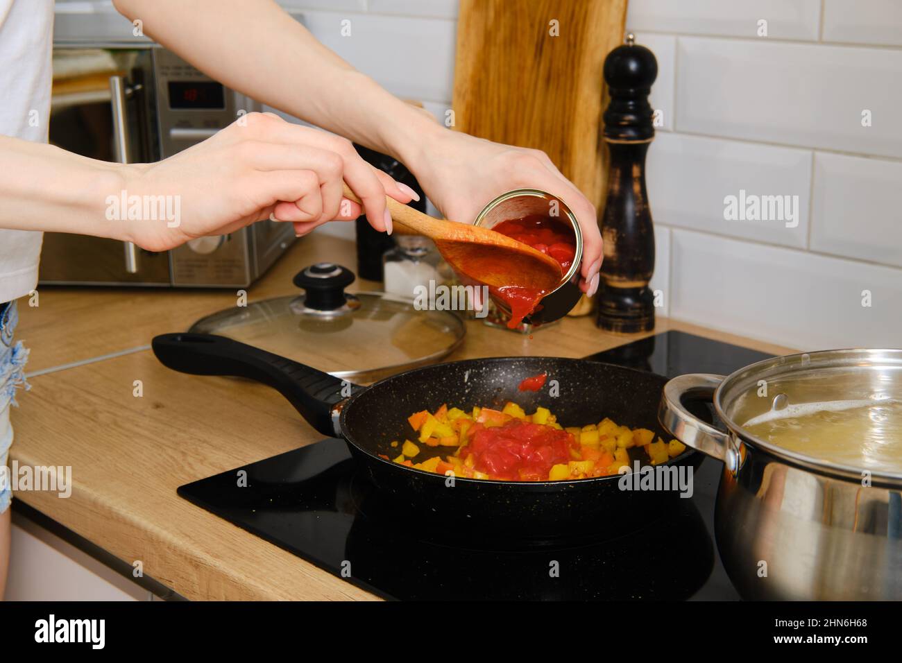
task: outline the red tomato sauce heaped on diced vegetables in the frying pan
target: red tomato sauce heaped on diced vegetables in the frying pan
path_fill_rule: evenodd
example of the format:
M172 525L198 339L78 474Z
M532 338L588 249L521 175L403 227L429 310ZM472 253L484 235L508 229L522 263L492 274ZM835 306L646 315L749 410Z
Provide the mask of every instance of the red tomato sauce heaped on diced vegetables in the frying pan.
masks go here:
M503 426L480 428L461 456L472 454L475 469L505 481L548 481L552 465L570 461L566 430L514 419Z

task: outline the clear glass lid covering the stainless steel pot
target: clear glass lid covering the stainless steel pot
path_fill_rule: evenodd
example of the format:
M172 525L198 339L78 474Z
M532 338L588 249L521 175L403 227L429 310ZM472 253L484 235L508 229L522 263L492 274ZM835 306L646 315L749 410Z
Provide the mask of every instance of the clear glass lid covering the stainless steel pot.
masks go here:
M776 456L902 483L902 349L766 359L732 373L714 402L731 428Z

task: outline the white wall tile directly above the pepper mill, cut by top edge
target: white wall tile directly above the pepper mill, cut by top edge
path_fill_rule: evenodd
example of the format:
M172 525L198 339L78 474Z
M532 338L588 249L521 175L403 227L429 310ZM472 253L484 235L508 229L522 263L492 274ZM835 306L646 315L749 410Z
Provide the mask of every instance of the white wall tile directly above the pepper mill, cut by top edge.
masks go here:
M756 37L760 20L771 39L816 40L821 0L630 0L631 29Z

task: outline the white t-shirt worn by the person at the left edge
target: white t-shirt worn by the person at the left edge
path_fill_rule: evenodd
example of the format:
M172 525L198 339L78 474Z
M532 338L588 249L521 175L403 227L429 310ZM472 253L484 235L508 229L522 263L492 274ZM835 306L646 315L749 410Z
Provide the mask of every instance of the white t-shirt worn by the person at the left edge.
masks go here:
M0 134L47 143L53 0L0 0ZM40 232L0 229L0 303L38 283Z

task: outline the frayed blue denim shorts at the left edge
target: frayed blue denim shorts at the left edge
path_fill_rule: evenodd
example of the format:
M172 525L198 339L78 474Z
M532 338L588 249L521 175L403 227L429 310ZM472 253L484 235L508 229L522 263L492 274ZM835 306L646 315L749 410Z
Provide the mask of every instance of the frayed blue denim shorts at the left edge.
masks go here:
M13 331L19 321L15 302L0 304L0 513L9 508L13 499L9 472L5 469L9 447L13 444L13 426L9 422L10 406L15 405L15 390L24 386L27 390L23 367L28 360L28 350L22 341L13 342Z

